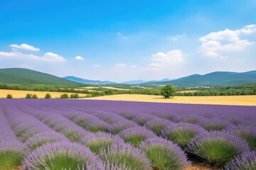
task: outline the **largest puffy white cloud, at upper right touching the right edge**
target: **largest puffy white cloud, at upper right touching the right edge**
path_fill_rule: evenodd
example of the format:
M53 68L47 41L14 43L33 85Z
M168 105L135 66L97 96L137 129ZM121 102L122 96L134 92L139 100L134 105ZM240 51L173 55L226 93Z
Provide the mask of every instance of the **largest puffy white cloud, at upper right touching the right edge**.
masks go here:
M220 30L218 32L209 33L199 38L202 44L199 52L205 57L227 58L226 52L238 52L245 50L246 47L255 44L253 41L241 40L240 36L256 32L256 25L249 25L239 30Z

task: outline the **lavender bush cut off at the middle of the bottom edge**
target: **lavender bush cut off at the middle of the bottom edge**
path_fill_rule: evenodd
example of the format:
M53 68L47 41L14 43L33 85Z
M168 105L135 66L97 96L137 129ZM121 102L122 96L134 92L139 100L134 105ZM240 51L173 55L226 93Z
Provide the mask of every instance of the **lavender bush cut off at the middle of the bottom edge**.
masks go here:
M100 152L100 158L105 162L106 169L152 169L146 155L128 144L112 145Z

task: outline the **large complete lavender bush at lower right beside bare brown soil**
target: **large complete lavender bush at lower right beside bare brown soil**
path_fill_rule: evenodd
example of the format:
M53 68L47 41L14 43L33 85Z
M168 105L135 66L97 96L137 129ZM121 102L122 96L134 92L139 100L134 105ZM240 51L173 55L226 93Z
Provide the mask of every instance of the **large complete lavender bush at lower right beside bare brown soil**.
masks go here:
M225 164L242 152L249 151L244 140L228 132L208 132L194 137L186 151L201 157L208 163Z

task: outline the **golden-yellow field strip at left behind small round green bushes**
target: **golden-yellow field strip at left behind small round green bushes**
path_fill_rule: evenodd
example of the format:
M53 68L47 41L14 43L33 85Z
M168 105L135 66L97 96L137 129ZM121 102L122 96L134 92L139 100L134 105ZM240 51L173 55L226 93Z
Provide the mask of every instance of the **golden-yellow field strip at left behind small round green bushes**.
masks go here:
M7 94L11 94L13 98L25 98L26 94L36 94L38 98L44 98L46 94L49 93L52 98L59 98L61 94L70 94L65 92L51 92L51 91L16 91L16 90L0 90L0 98L6 98ZM87 94L78 94L81 96L86 96Z

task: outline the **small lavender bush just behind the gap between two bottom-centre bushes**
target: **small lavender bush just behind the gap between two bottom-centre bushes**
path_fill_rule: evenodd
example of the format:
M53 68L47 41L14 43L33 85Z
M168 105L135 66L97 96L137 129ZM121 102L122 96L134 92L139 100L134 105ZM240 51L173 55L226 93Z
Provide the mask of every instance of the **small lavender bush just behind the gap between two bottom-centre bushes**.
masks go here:
M140 142L156 136L154 135L154 132L141 127L128 128L119 132L119 135L124 142L129 142L134 145L134 147L137 147Z

